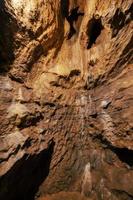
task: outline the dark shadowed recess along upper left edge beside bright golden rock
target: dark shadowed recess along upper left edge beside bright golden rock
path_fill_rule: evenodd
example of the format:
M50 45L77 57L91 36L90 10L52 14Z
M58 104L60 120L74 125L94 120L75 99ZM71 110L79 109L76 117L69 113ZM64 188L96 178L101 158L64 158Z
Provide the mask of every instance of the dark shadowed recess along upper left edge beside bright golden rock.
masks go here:
M14 32L17 22L7 11L5 1L0 1L0 73L10 70L14 60Z

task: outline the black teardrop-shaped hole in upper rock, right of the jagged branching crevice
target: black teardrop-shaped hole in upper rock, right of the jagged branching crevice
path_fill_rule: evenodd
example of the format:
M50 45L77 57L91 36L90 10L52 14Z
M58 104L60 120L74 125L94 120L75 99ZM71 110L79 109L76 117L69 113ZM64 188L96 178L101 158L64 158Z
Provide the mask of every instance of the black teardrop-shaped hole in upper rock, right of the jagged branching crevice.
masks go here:
M89 36L88 49L90 49L92 45L96 43L96 40L101 34L103 28L104 27L102 25L101 18L95 19L93 17L93 19L90 20L88 25L88 36Z

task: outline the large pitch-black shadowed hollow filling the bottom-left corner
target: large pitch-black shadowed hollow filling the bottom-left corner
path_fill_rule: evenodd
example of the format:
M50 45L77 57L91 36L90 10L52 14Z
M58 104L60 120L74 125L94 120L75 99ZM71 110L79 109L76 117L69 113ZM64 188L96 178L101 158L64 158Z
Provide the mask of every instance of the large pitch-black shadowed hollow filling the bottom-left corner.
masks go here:
M49 174L54 141L37 155L24 155L0 179L1 200L34 200L39 186Z

